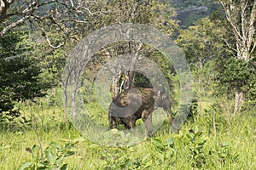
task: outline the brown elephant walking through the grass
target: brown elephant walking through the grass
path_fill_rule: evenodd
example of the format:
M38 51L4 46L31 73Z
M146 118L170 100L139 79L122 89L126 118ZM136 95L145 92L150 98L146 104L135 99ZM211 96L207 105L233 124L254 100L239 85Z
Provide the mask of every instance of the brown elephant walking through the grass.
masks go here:
M114 98L108 109L109 128L116 128L118 124L124 124L125 128L132 129L138 119L142 118L152 136L152 114L155 109L162 107L167 111L167 116L172 127L177 128L172 120L171 102L169 94L163 88L132 88L124 90Z

